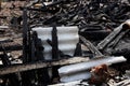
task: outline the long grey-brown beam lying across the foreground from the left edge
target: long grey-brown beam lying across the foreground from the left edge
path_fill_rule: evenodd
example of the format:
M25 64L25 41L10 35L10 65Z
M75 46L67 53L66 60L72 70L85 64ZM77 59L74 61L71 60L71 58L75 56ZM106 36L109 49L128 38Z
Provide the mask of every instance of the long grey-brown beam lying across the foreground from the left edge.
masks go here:
M47 67L53 67L53 66L65 66L65 64L84 62L88 60L89 60L88 57L74 57L74 58L68 58L68 59L62 59L58 61L46 61L46 62L39 61L39 62L34 62L34 63L10 66L6 68L1 68L0 75L29 71L29 70L35 70L35 69L41 69L41 68L47 68Z

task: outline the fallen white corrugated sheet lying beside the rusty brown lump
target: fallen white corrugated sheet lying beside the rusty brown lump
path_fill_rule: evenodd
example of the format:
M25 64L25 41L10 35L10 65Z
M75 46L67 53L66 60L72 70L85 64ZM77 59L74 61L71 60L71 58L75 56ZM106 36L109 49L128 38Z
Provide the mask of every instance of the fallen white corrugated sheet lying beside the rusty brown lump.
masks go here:
M100 64L112 64L117 62L126 61L127 59L122 56L120 57L106 57L93 59L88 62L80 62L76 64L64 66L58 69L61 76L61 82L73 82L77 80L88 80L91 77L89 69L100 66Z

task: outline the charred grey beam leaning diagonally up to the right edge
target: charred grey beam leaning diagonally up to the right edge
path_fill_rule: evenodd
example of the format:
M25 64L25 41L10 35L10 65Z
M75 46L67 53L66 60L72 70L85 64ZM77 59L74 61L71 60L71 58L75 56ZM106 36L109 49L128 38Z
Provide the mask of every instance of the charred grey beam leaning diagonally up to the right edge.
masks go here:
M126 20L123 24L121 24L119 27L115 28L115 30L109 33L103 41L101 41L96 48L98 49L104 49L109 43L112 43L115 39L116 42L118 41L129 31L130 29L130 20Z

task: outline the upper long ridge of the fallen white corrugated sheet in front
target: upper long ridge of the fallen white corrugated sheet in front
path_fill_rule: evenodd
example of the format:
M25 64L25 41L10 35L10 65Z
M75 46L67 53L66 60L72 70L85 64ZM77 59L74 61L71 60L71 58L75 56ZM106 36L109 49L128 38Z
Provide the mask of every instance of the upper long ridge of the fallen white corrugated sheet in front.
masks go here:
M81 71L86 71L90 68L93 68L95 66L100 66L103 63L112 64L112 63L122 62L126 60L127 59L123 56L99 58L99 59L89 60L88 62L80 62L80 63L76 63L76 64L64 66L58 69L58 72L60 72L60 74L81 72Z

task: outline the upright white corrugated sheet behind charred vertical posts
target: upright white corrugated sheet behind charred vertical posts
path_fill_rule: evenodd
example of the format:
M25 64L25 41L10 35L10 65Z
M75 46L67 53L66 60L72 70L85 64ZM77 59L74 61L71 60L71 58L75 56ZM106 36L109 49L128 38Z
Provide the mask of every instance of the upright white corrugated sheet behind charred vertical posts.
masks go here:
M57 29L57 39L58 39L58 49L62 51L65 55L74 55L76 49L76 44L79 42L78 37L78 27L56 27ZM51 59L51 49L52 47L47 43L47 40L52 40L52 27L36 27L32 28L34 31L37 31L38 38L42 40L42 45L44 47L44 57L46 59Z

